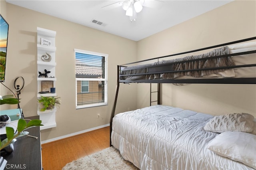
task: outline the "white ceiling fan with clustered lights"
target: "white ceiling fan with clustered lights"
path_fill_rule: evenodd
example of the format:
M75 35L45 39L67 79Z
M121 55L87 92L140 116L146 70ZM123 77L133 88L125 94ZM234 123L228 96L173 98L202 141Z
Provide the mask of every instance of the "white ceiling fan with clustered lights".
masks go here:
M130 21L136 21L137 13L142 10L143 7L149 8L160 8L164 1L162 0L124 0L115 2L106 6L103 6L104 9L114 9L122 6L126 11L126 16L129 16Z

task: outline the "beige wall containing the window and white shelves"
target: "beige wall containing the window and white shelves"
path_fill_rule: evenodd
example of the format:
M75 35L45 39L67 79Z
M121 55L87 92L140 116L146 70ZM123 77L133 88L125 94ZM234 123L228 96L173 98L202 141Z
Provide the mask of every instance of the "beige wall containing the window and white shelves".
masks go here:
M12 88L15 77L25 79L20 106L25 117L37 115L37 27L56 31L56 93L62 105L56 113L56 128L42 130L42 140L106 125L115 96L116 65L136 60L136 42L6 3L9 27L6 82ZM1 5L2 6L2 5ZM108 54L108 106L76 110L74 48ZM121 85L117 112L135 109L135 86ZM128 92L126 89L133 89ZM1 85L1 95L10 92ZM124 95L126 97L124 98ZM1 106L12 109L16 105ZM100 113L100 118L97 118Z

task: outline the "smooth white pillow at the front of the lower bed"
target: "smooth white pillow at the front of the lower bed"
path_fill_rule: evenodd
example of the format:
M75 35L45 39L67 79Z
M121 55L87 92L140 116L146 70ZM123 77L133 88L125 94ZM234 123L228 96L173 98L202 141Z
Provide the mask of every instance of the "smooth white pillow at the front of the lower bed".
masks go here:
M256 135L245 132L223 132L206 146L214 153L242 162L256 169Z

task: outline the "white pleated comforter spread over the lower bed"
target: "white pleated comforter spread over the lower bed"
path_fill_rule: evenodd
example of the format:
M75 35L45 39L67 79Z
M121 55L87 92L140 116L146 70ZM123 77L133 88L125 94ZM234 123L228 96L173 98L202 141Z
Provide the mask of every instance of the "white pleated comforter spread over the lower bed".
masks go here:
M211 115L156 105L128 111L113 119L112 145L142 170L247 170L206 145L218 133L204 125Z

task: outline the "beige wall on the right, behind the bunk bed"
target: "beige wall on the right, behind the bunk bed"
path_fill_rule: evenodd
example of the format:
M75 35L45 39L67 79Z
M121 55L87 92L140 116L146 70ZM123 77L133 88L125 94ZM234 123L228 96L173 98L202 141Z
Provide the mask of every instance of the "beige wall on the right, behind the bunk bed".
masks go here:
M256 36L256 1L234 1L138 42L138 59L208 47ZM172 17L170 16L170 20ZM145 50L146 49L146 50ZM162 104L212 115L251 113L256 85L162 84ZM149 85L139 84L137 108L148 105Z

